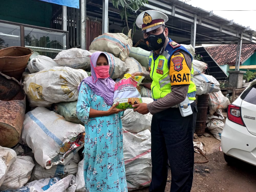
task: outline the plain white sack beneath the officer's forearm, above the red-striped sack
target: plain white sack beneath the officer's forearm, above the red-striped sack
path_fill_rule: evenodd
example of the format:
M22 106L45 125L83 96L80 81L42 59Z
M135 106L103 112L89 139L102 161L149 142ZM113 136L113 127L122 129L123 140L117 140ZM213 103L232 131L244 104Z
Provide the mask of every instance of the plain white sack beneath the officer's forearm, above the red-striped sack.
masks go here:
M152 98L142 98L143 103L153 102ZM130 133L138 133L144 130L151 130L152 114L142 115L134 112L133 109L126 109L124 115L121 116L123 129Z

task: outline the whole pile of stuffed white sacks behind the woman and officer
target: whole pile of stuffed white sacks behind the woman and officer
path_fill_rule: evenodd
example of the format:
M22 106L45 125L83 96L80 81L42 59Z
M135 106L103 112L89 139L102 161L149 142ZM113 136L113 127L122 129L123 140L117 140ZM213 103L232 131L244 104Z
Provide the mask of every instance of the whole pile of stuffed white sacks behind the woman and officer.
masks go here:
M184 46L195 54L191 45ZM83 159L78 154L85 133L76 116L77 88L90 74L90 56L95 51L108 55L113 80L125 73L148 73L150 51L132 47L131 31L128 35L105 33L93 40L89 51L71 48L54 59L34 54L23 73L22 86L30 110L25 114L21 139L13 148L0 146L1 191L85 191ZM203 73L205 63L193 61L193 66L198 94L214 93L210 98L217 98L219 103L211 102L211 111L219 112L226 105L218 92L218 81ZM140 93L143 102L153 102L150 89L141 85ZM150 113L141 115L133 109L125 110L122 116L129 190L151 182L151 118ZM208 124L221 118L209 118Z

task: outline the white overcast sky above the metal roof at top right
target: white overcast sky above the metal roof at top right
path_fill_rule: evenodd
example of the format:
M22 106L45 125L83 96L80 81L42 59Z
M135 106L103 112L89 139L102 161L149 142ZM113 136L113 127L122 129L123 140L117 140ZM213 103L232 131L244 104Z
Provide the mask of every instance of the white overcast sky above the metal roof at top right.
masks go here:
M206 11L213 10L213 14L234 23L256 30L256 1L255 0L182 0L193 7L199 7ZM232 11L224 11L232 10ZM246 10L246 11L235 11Z

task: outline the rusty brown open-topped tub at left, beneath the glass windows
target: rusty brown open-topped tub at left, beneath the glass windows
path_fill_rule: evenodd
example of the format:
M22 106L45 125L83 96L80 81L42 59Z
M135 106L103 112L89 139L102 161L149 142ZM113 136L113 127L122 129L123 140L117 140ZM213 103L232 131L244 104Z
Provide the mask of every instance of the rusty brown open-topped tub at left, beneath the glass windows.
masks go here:
M20 81L32 54L33 51L26 47L13 46L1 49L0 72Z

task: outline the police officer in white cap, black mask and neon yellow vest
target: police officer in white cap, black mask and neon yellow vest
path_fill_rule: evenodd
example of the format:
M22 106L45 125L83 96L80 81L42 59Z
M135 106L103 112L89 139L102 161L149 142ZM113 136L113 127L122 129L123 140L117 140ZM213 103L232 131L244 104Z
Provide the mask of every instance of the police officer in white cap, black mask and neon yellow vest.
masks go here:
M193 57L185 47L167 37L167 20L164 13L156 10L144 11L136 19L145 43L152 50L148 67L154 101L133 105L138 113L153 114L151 192L165 191L168 160L172 176L170 191L190 191L193 182L193 127L197 113ZM133 75L143 75L139 73ZM177 106L187 97L193 114L184 117Z

